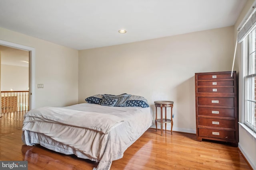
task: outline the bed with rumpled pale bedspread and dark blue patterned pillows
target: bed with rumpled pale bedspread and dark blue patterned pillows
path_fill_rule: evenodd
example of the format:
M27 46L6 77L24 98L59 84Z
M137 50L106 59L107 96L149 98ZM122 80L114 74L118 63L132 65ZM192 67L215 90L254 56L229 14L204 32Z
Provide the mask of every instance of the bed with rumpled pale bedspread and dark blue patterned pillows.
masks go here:
M132 96L121 101L111 96L108 102L102 96L67 107L32 109L24 115L22 141L99 162L94 170L109 170L153 123L150 107L138 106Z

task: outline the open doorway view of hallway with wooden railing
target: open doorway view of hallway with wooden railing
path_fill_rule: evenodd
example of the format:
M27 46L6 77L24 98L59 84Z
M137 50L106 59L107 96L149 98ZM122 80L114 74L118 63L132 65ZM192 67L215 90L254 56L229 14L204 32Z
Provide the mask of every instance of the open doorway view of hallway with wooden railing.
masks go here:
M30 52L0 45L1 113L28 111Z

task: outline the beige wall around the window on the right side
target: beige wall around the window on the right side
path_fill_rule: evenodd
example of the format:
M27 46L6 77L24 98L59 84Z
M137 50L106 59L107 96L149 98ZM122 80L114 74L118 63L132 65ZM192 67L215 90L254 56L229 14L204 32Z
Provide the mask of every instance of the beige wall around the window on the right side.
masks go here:
M234 37L237 35L237 29L240 23L245 19L246 14L248 14L249 10L252 10L252 4L254 4L255 0L248 0L244 9L240 13L238 20L234 25ZM234 40L234 44L236 40ZM238 89L239 89L239 99L238 99L238 108L239 108L239 122L243 123L242 118L242 75L240 72L242 71L242 52L241 52L241 44L237 45L236 50L236 58L235 58L235 69L238 71ZM255 137L252 136L246 129L245 125L239 124L239 143L238 147L250 163L253 169L256 169L256 140ZM253 133L253 132L252 132ZM254 134L255 135L255 134Z

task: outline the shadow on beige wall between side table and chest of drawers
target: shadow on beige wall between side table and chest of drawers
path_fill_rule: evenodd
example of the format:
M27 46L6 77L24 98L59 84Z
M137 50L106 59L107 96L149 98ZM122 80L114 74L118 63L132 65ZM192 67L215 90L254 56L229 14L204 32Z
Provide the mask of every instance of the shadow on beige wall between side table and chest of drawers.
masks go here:
M196 100L195 100L195 77L182 82L176 89L176 113L174 113L175 127L182 129L196 129ZM182 130L185 131L186 130Z

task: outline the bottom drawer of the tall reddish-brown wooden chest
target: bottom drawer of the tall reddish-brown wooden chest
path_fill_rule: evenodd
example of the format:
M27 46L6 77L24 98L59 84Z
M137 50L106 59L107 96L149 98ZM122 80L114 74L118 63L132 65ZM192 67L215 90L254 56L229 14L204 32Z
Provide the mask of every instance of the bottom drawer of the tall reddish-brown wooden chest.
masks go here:
M198 135L201 137L212 137L220 139L235 139L234 131L227 131L221 129L207 129L207 128L198 128Z

